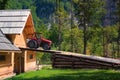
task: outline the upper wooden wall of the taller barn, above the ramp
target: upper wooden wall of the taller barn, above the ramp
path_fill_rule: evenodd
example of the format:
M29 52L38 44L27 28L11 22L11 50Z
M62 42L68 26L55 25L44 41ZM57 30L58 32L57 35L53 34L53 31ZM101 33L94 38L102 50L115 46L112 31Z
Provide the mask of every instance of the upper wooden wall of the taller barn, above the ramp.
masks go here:
M21 34L7 34L7 38L13 42L17 47L27 47L27 39L32 37L30 34L34 33L34 25L32 22L32 16L29 15L26 25Z

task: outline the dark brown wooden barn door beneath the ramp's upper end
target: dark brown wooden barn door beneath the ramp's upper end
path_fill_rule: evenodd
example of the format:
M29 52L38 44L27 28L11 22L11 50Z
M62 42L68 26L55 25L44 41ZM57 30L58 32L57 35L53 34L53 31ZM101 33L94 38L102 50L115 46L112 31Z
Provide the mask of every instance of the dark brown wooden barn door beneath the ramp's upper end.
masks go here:
M24 56L22 53L15 53L14 72L16 74L20 74L20 73L24 72Z

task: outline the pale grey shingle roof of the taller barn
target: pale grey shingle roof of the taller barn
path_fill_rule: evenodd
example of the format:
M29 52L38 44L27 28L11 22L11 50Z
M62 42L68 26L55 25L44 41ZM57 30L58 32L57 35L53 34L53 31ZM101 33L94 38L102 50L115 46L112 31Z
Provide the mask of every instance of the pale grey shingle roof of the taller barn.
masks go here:
M0 29L4 34L20 34L30 15L30 10L0 10Z

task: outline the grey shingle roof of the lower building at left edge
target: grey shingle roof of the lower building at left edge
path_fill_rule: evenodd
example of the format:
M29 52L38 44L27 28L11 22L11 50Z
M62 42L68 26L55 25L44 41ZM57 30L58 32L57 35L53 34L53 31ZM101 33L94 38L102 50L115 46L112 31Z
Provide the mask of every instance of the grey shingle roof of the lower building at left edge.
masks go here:
M14 46L0 30L0 51L20 51L19 48Z

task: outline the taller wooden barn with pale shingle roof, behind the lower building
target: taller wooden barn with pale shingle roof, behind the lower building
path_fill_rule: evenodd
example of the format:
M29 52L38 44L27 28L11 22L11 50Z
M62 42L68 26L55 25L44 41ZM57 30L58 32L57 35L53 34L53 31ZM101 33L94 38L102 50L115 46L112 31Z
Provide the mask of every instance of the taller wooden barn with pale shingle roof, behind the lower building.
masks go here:
M30 10L0 10L0 29L17 48L26 48L27 39L31 37L29 35L34 33ZM21 73L36 69L35 56L34 51L21 50L21 54L15 53L12 57L14 58L14 72Z

